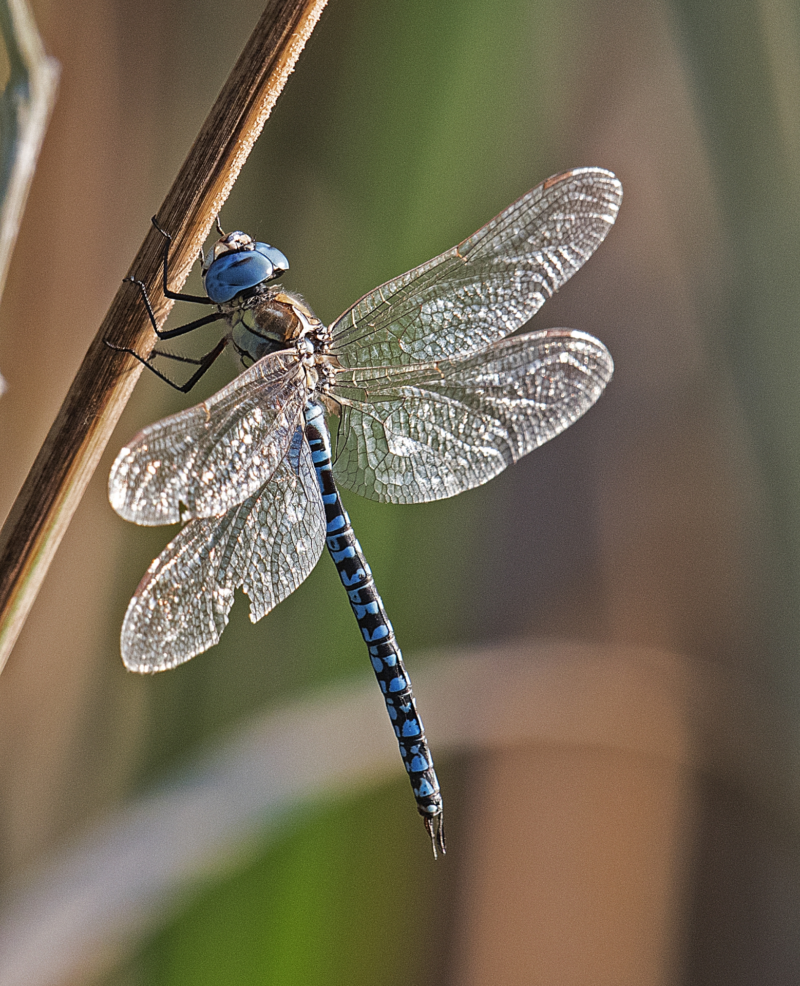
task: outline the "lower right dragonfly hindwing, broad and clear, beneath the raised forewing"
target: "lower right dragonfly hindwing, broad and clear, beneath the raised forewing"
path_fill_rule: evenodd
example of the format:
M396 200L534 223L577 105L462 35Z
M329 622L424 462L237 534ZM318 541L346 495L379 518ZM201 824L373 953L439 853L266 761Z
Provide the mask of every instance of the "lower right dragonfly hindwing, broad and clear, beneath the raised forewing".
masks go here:
M371 500L455 496L577 421L613 373L603 343L568 328L460 359L341 372L333 473Z

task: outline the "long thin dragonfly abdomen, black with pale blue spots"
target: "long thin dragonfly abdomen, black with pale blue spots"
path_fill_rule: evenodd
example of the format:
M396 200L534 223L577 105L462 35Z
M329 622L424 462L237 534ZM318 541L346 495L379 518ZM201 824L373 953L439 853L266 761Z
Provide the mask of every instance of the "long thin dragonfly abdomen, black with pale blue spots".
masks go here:
M325 412L319 404L309 403L305 417L306 437L325 506L327 550L367 644L370 662L400 744L400 756L411 782L417 810L425 820L434 853L437 847L444 852L439 782L395 631L333 481Z

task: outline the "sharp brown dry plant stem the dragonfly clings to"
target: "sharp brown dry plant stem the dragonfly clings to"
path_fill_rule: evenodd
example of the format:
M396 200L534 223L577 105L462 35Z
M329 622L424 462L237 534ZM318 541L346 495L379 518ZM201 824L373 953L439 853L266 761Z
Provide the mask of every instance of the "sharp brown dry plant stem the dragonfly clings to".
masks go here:
M208 235L326 0L270 0L158 212L173 234L178 290ZM151 229L129 273L147 285L159 323L172 302L160 285L164 240ZM123 283L0 531L0 669L36 599L142 367L104 344L147 354L155 335L139 292Z

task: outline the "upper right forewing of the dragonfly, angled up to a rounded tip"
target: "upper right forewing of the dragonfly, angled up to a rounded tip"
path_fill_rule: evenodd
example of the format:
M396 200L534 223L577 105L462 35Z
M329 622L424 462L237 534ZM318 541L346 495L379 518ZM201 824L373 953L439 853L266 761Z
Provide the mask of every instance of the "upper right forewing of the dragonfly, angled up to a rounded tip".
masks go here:
M467 355L524 325L603 243L622 186L579 168L523 195L469 240L388 281L330 326L342 366Z

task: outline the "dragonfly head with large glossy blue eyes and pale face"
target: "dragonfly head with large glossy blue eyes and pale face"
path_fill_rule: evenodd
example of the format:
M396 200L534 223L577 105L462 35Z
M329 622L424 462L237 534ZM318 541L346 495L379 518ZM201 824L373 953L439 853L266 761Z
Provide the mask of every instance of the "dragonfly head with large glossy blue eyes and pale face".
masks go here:
M289 261L275 246L256 243L237 231L219 239L203 261L203 284L212 302L222 305L240 292L274 281L289 269Z

